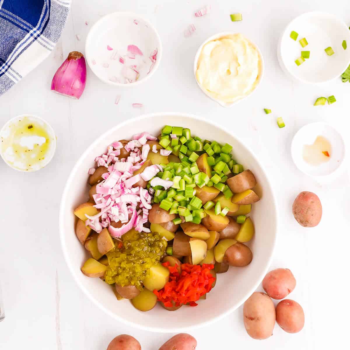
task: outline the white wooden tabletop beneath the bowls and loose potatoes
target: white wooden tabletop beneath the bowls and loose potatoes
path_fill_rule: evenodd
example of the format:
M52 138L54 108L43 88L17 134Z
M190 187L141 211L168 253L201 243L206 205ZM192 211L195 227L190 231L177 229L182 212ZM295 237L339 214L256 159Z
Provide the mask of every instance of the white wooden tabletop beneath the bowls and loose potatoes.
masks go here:
M203 0L75 0L55 51L0 98L1 125L18 114L37 114L49 121L58 137L53 161L40 172L19 173L0 162L0 281L6 310L6 320L0 323L0 349L104 350L114 336L127 333L138 338L142 349L154 350L171 336L126 327L93 306L73 281L58 238L64 183L85 147L126 118L159 111L188 112L216 120L243 138L264 160L275 183L282 222L271 268L292 270L297 285L290 298L303 306L306 316L299 334L287 334L276 325L273 336L258 343L245 333L240 308L210 327L191 331L198 349L346 348L350 312L348 175L344 172L336 183L321 186L295 168L289 147L294 133L311 121L336 125L348 136L350 84L340 80L326 86L290 82L278 65L276 45L285 25L308 10L331 9L350 24L348 3L216 0L211 1L209 15L195 18L194 11L205 5ZM116 89L89 71L79 101L52 93L50 82L63 57L72 50L84 52L91 25L100 16L118 10L143 14L159 30L164 52L152 79L135 89ZM237 12L243 14L243 21L232 23L229 14ZM190 23L195 24L196 33L184 38L183 31ZM206 98L192 71L200 43L224 30L250 37L259 45L266 65L260 88L231 109ZM118 94L119 105L114 105ZM337 98L334 105L313 106L316 97L331 94ZM132 103L143 103L144 107L133 109ZM272 109L274 114L266 116L263 108ZM276 126L278 116L285 120L283 129ZM292 202L302 190L314 191L321 198L324 214L317 228L303 229L292 216ZM234 292L223 291L223 297ZM171 317L169 314L169 322Z

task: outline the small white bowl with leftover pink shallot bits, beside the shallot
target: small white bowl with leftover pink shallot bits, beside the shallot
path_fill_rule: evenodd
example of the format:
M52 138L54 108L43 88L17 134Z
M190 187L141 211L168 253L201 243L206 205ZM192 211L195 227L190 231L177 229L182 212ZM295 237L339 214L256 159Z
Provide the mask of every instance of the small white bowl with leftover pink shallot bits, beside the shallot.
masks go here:
M137 45L144 55L128 58L128 45ZM153 64L149 57L154 50L158 52ZM120 56L125 59L125 64L119 61ZM114 12L101 18L90 29L86 37L85 57L91 70L103 82L114 86L137 86L157 70L162 57L162 43L157 30L142 16L132 12ZM132 83L121 81L123 66L137 63L138 80Z

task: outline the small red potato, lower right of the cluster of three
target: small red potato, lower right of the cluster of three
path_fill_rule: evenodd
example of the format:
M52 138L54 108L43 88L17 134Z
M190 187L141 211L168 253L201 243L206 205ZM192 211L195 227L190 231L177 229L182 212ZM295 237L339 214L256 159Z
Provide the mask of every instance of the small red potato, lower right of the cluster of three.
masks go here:
M276 322L287 333L300 332L304 327L304 310L296 301L284 299L276 306Z

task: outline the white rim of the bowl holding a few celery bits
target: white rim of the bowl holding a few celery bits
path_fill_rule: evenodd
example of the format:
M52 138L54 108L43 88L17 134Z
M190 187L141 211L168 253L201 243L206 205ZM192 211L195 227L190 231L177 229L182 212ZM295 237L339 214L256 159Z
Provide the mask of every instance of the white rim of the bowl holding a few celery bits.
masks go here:
M286 35L287 33L287 28L297 19L299 18L302 18L302 17L307 17L307 16L311 16L311 15L327 15L328 17L331 17L333 18L334 20L338 21L339 23L341 23L341 25L345 26L348 30L349 30L349 27L345 24L345 22L337 17L336 15L332 14L332 13L328 13L328 12L325 12L325 11L309 11L309 12L305 12L305 13L302 13L301 15L299 16L296 16L295 18L293 18L290 22L288 22L288 24L286 25L285 29L283 29L282 31L282 34L279 38L279 42L278 42L278 45L277 45L277 56L278 56L278 60L280 61L280 65L282 66L282 70L287 72L288 74L290 74L294 79L298 80L299 82L302 82L304 84L310 84L310 85L317 85L317 84L324 84L324 83L329 83L337 78L339 78L343 72L345 72L346 68L348 68L349 64L350 64L350 58L349 58L349 62L348 64L346 65L346 67L344 69L342 69L342 72L340 74L337 74L335 75L333 78L330 78L330 79L327 79L327 80L322 80L321 82L310 82L309 80L305 80L297 75L295 75L293 72L291 72L287 66L285 65L284 63L284 59L283 59L283 56L281 54L281 45L282 45L282 39L283 37ZM340 69L339 69L340 71Z

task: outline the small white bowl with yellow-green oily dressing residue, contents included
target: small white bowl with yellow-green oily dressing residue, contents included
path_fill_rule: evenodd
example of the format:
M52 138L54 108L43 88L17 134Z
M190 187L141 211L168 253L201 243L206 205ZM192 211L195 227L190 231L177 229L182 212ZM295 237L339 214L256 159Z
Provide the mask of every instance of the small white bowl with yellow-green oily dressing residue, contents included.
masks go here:
M43 119L23 114L0 131L0 155L15 170L35 172L47 166L56 151L56 135Z

